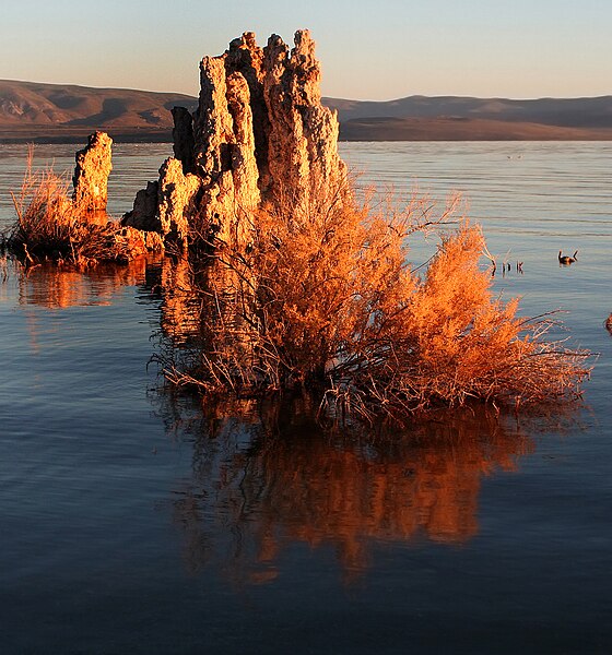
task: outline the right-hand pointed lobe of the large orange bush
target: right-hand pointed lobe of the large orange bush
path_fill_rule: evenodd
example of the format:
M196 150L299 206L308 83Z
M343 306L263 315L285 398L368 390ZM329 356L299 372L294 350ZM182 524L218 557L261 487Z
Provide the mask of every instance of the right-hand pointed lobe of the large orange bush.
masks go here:
M373 334L388 356L361 371L368 405L397 415L471 398L519 405L579 395L587 354L546 342L551 321L518 318L517 299L493 295L479 267L484 248L480 228L467 223L443 238L409 302Z

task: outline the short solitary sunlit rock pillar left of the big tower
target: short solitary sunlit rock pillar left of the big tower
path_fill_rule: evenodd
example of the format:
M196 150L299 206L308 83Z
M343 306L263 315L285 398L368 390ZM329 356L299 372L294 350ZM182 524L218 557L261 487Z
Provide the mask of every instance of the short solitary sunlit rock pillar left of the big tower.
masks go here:
M106 222L108 176L111 164L113 139L105 132L94 132L87 145L76 152L72 199L92 222Z

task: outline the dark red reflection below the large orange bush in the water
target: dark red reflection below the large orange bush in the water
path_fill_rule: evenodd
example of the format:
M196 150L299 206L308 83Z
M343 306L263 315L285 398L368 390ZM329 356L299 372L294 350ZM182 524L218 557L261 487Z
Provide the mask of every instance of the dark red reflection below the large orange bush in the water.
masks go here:
M273 579L292 544L331 547L350 580L375 543L468 541L483 476L513 471L533 442L479 408L391 439L325 433L311 408L237 407L203 418L166 414L193 441L193 479L173 512L189 570L221 567L240 583ZM250 409L250 412L249 412ZM180 415L180 418L179 418Z

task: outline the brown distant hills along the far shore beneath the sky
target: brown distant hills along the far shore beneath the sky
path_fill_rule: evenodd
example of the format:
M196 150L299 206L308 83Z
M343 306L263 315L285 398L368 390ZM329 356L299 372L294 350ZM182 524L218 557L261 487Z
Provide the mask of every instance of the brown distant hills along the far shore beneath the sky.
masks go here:
M349 141L612 140L612 96L511 100L410 96L323 98ZM116 141L170 141L183 94L0 81L0 143L82 142L96 129Z

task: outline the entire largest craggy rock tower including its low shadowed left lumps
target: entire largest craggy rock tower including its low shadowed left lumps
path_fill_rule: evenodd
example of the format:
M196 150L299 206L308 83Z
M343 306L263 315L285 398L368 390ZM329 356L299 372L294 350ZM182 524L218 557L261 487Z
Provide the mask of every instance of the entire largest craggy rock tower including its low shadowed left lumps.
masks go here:
M345 175L338 156L338 119L321 104L320 67L308 31L290 51L272 35L260 48L252 33L200 63L198 109L175 108L175 157L160 169L156 207L150 182L123 224L185 241L188 231L246 246L252 212L308 201Z

